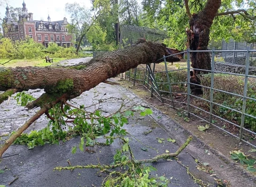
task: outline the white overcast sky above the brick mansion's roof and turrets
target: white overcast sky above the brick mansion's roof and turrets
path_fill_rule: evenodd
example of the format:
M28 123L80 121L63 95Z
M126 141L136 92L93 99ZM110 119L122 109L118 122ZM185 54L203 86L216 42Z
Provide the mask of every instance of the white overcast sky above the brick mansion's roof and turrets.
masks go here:
M80 5L84 5L87 8L90 8L92 5L90 0L24 0L28 12L33 13L34 20L40 20L41 18L44 21L47 21L48 11L51 17L51 21L63 20L66 16L69 19L69 15L65 12L66 3L77 2ZM23 0L8 0L9 7L22 7ZM0 17L5 17L6 4L0 6Z

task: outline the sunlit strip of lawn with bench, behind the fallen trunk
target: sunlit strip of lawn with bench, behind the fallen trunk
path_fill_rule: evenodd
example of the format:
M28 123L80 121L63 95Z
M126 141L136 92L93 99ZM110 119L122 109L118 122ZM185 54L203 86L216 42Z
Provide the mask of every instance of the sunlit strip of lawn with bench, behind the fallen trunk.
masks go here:
M48 66L52 64L56 64L61 60L65 60L66 58L53 58L53 63L46 63L45 59L40 60L11 60L5 65L0 65L0 67L25 67L25 66ZM0 59L0 64L7 62L9 59Z

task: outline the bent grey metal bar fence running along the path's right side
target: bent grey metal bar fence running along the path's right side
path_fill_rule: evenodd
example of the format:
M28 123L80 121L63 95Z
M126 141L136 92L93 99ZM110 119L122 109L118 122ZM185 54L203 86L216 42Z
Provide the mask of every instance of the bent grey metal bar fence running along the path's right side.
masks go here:
M193 89L198 85L190 82L190 71L200 69L190 67L192 52L210 52L212 57L218 52L246 54L245 72L239 74L216 71L216 63L211 58L211 70L203 70L209 73L200 78L203 94L196 95ZM160 65L139 65L126 72L125 79L133 85L143 86L150 91L151 97L155 96L164 104L177 109L187 119L194 116L256 147L256 76L249 73L250 56L255 52L249 47L247 50L188 49L178 53L187 54L187 62L178 65L178 68L175 64L175 68L167 64L167 57L164 56L158 60L163 61Z

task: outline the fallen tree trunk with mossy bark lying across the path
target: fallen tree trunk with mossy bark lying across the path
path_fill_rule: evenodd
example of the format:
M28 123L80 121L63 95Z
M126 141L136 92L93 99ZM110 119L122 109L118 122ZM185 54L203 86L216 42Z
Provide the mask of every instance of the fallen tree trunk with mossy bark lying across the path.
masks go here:
M6 91L0 95L1 102L8 98L7 95L10 96L15 92L36 88L45 90L37 100L26 106L29 109L37 107L41 109L5 141L0 147L0 157L30 124L44 113L49 116L48 110L56 104L73 99L106 79L135 68L139 64L150 64L163 55L168 56L178 52L180 51L166 48L165 44L139 39L136 44L125 49L106 53L78 65L0 68L0 91ZM175 55L166 60L176 62L181 58L181 55Z

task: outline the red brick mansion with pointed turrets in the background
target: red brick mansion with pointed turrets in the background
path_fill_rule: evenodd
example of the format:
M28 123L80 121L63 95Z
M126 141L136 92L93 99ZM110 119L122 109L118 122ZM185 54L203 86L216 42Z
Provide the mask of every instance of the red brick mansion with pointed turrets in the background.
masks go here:
M6 7L6 17L3 24L3 35L16 40L23 40L26 36L33 38L34 41L42 43L45 47L48 43L55 42L59 46L70 47L72 45L72 36L68 34L68 21L64 17L61 21L51 22L48 15L47 22L33 20L33 14L28 13L26 4L23 1L22 15L19 15L19 20L15 22L9 12L9 7Z

